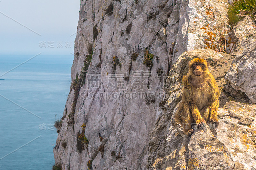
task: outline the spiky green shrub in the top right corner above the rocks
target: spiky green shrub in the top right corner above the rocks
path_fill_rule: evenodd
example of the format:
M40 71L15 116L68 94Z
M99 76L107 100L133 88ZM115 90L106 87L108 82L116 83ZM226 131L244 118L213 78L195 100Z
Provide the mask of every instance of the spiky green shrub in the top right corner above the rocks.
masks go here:
M230 4L228 8L229 24L236 24L246 15L256 22L256 0L238 0Z

